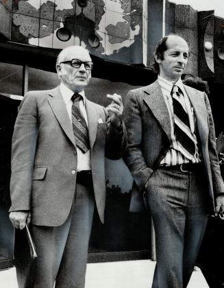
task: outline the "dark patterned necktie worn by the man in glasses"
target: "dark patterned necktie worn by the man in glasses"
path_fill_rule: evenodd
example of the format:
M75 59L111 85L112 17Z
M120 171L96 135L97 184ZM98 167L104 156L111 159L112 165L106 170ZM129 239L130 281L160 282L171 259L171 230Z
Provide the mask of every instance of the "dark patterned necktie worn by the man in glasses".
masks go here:
M88 127L86 120L84 119L84 116L79 108L79 100L81 97L81 95L75 93L71 98L73 100L71 115L76 145L82 150L82 152L86 153L88 149L90 149L90 141L88 138Z

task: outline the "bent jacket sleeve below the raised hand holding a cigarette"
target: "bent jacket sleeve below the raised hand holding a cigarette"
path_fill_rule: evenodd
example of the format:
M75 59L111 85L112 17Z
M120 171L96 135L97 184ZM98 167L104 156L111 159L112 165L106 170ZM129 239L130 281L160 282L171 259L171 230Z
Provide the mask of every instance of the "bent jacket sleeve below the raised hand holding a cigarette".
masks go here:
M118 131L110 122L108 111L104 108L106 123L108 127L105 139L105 157L111 160L118 160L123 157L127 147L127 131L122 120L122 130Z

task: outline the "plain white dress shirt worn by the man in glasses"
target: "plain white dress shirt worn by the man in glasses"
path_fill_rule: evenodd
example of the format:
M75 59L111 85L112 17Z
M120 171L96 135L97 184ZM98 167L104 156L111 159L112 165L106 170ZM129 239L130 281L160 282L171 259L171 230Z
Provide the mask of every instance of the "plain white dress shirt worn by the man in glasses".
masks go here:
M68 111L69 118L71 120L72 125L72 119L71 119L71 108L73 106L73 101L71 100L71 97L73 97L74 92L71 91L64 83L61 82L60 84L60 92L62 93L62 97L64 99L64 103L66 106L66 110ZM86 120L86 124L88 126L88 118L86 114L86 96L84 91L79 92L79 95L82 96L82 99L79 101L79 108L84 116L84 119ZM91 161L90 161L90 149L86 153L82 152L79 147L77 147L77 171L82 170L91 170Z

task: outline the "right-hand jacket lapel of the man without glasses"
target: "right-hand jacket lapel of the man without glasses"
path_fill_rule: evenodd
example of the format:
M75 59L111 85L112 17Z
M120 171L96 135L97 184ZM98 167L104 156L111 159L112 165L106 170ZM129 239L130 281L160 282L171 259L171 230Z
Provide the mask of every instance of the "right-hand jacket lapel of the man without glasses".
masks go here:
M195 117L197 119L197 129L199 131L200 139L205 139L208 136L208 125L207 125L207 116L208 112L206 109L205 102L199 92L192 91L188 86L185 86L185 91L188 94L190 103L194 109Z

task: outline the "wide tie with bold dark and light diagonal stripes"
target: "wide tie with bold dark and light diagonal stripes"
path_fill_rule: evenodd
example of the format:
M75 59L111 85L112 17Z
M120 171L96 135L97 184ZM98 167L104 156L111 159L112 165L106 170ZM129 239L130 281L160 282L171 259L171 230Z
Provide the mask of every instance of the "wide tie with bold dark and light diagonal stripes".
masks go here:
M188 113L182 106L180 94L182 91L178 86L173 86L171 91L173 97L174 132L179 149L188 159L195 154L195 139L190 130Z

